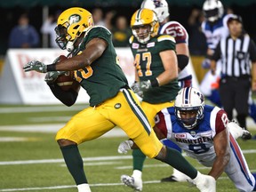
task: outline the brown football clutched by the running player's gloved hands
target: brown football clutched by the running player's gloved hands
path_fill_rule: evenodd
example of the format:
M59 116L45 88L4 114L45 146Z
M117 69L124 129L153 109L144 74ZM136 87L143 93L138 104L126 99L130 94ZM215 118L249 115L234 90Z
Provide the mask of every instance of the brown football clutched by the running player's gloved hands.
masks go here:
M56 62L57 65L61 60L68 60L68 58L65 55L60 55ZM55 82L63 91L68 91L77 84L76 80L74 79L74 71L67 71L65 74L58 76Z

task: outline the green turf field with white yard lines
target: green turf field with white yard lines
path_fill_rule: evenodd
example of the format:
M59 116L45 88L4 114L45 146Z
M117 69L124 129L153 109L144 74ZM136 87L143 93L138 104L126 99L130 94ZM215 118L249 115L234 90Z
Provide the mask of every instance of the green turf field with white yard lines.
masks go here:
M56 126L65 124L81 108L84 106L0 106L0 192L76 191L54 136ZM44 126L38 128L38 124L54 128L44 130ZM28 130L25 129L27 127ZM256 134L256 130L252 129L252 133ZM131 152L119 155L116 150L118 144L125 139L124 136L104 137L80 145L84 170L92 192L132 192L131 188L120 182L121 174L132 173ZM238 142L244 150L250 169L256 172L256 140ZM209 171L191 158L188 161L200 172ZM187 182L159 183L158 180L171 173L171 167L154 159L147 159L143 172L143 191L198 191ZM217 191L236 191L225 173L217 182Z

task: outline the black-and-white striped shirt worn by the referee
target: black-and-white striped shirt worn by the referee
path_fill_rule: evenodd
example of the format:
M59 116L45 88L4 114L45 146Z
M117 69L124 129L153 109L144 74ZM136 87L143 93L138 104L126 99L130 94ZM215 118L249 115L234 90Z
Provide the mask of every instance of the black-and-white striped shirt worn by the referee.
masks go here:
M212 60L221 59L221 75L230 77L251 76L251 61L256 61L256 45L248 35L235 39L220 39Z

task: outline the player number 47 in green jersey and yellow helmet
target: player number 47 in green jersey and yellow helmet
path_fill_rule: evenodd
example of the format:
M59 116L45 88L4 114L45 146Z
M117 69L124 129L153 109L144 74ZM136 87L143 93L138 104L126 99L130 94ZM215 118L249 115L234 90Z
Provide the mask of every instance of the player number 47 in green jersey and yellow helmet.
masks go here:
M178 63L175 39L169 35L159 35L159 21L156 13L149 9L134 12L131 20L133 36L130 38L134 56L135 83L132 90L142 96L141 107L152 127L154 117L165 107L172 107L180 90L178 84ZM145 155L139 149L132 151L134 187L142 190L142 159ZM124 184L130 177L121 176ZM138 178L138 180L136 180ZM130 186L131 187L131 186Z

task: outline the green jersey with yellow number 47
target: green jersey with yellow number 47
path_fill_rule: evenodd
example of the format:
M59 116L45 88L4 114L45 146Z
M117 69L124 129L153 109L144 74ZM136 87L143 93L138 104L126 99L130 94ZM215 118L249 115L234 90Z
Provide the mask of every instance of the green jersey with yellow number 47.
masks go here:
M140 81L155 79L164 72L160 52L175 51L175 40L172 36L158 35L151 38L147 44L140 44L134 36L130 38L132 54L135 60ZM152 87L143 92L143 101L156 104L174 100L180 90L178 79L159 87Z

